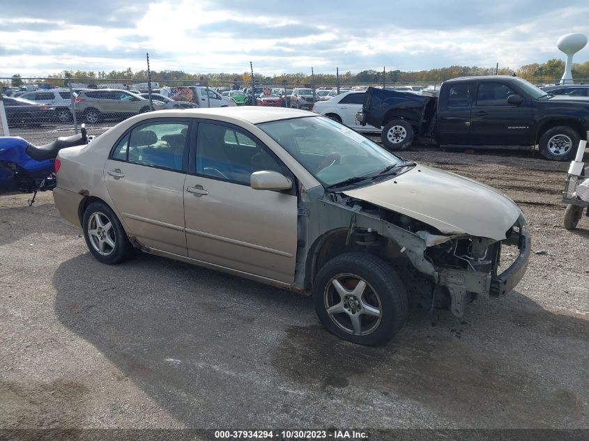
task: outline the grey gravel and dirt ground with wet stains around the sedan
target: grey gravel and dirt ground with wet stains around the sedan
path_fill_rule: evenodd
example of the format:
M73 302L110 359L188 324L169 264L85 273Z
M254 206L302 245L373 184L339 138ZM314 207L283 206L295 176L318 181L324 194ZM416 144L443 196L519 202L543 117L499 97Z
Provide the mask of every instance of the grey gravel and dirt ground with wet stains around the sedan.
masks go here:
M526 277L464 318L415 310L383 348L307 297L139 254L96 262L52 194L0 196L1 428L589 428L589 218L562 228L567 164L404 157L523 209Z

